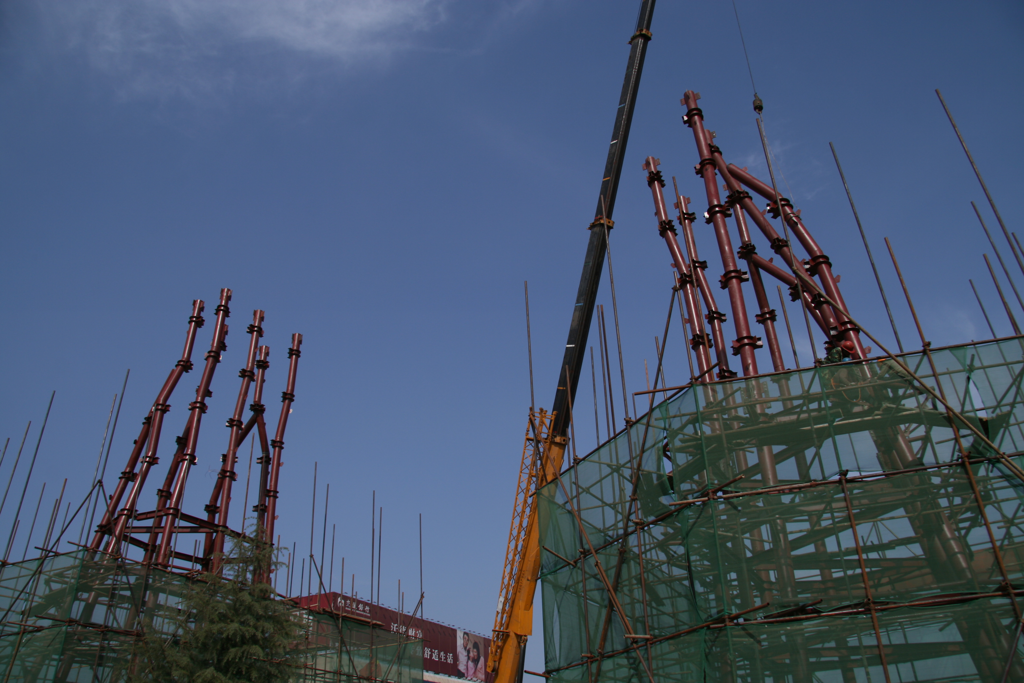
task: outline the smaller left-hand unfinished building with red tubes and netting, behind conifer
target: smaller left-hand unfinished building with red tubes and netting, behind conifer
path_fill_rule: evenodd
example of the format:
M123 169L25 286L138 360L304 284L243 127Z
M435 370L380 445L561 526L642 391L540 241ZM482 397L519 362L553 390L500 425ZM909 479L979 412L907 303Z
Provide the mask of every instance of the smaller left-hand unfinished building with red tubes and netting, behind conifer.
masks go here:
M70 519L59 525L51 519L41 557L0 565L0 680L5 683L123 681L133 667L140 637L172 639L179 635L177 615L185 596L210 574L223 573L225 561L230 561L230 543L272 546L280 558L280 537L274 536L279 475L288 416L295 400L302 335L292 335L281 413L274 431L268 432L264 420L267 408L262 401L270 349L260 344L262 310L253 311L247 328L245 366L239 373L238 398L226 421L229 436L209 503L202 514L185 510L183 504L188 474L197 463L200 429L208 410L206 398L211 395L210 385L226 349L230 299L231 290L220 291L195 400L187 403L188 417L183 431L173 440L175 449L165 460L166 469L158 469L162 427L176 386L195 367L191 358L197 336L206 324L201 300L193 302L181 357L144 416L113 489L105 490L100 475ZM243 420L247 410L248 419ZM227 521L231 487L238 477L238 452L250 434L254 442L259 441L261 452L256 461L255 504L243 517L252 523L232 529ZM169 439L165 436L163 440ZM151 508L145 506L143 487L150 475L158 473L164 476L163 485L157 488ZM196 486L199 482L194 479L191 483ZM67 540L66 532L76 518L92 514L97 520L92 539L80 550L58 553L56 549ZM310 555L310 575L312 562ZM256 579L279 585L280 572L267 571L268 575ZM323 568L316 567L316 573L323 573ZM288 590L283 582L281 590ZM298 617L299 632L291 639L284 659L293 673L291 680L422 683L422 637L394 624L402 626L408 615L384 624L373 618L369 609L364 613L304 604L281 594L278 597L288 598L288 608Z

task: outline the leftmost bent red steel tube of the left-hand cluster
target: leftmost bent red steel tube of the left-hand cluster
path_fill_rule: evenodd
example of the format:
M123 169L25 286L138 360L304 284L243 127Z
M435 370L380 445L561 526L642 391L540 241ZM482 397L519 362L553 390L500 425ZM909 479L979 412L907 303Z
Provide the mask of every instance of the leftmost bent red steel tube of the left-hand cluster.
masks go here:
M161 387L160 393L157 394L157 400L153 402L153 408L150 409L148 415L142 421L142 429L139 431L138 438L135 439L131 455L128 457L128 464L118 479L117 487L114 489L114 494L108 503L106 512L103 513L103 517L96 527L96 532L92 537L91 543L89 543L89 548L92 550L98 550L103 536L110 533L111 541L108 544L108 551L117 552L125 525L135 513L135 505L138 501L139 492L141 492L142 485L145 483L145 477L150 469L157 462L157 445L160 442L160 429L163 424L164 414L171 408L167 401L170 400L171 394L174 392L174 388L177 386L181 376L193 369L191 353L196 345L196 333L199 332L199 329L204 324L203 309L204 303L202 299L193 301L193 312L188 316L188 332L185 334L185 346L181 351L181 358L174 365L174 370L171 371L170 375L167 376L164 386ZM142 468L136 473L135 467L138 464L139 456L147 443L150 444L150 449L142 462ZM128 498L128 503L124 508L119 510L118 508L121 505L129 483L132 483L133 486Z

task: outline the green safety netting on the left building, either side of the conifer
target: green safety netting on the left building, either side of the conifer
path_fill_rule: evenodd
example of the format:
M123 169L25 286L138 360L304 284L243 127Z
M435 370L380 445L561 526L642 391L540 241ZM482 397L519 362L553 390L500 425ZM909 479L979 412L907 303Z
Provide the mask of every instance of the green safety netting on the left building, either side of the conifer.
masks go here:
M193 579L85 550L0 569L0 681L125 679L136 629L169 632ZM295 609L293 681L422 683L421 641Z

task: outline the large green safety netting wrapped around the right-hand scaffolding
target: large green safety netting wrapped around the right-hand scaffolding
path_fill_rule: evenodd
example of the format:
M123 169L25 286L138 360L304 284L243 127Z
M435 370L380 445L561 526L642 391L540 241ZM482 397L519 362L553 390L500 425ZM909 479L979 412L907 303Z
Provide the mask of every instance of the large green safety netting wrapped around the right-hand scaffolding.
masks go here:
M1021 464L1020 339L902 360ZM1024 680L1022 505L891 359L687 389L539 494L547 670L884 682L884 657L892 681Z

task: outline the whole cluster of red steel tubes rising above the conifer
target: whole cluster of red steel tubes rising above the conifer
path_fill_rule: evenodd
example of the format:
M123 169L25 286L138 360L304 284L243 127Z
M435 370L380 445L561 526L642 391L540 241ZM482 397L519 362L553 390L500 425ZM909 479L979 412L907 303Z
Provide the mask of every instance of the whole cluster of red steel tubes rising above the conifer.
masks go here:
M177 450L171 457L170 467L164 478L163 485L157 489L157 506L154 510L139 511L139 499L145 486L146 479L154 466L160 463L158 456L164 417L170 411L168 402L181 377L193 369L191 354L196 345L196 336L205 324L202 300L193 301L191 315L188 317L188 328L185 333L184 349L181 358L175 364L157 394L142 421L142 428L134 441L132 452L121 477L118 479L114 493L106 502L106 509L99 524L96 526L88 548L119 556L127 552L128 546L141 548L142 561L153 563L163 568L194 570L198 566L215 573L220 571L220 557L224 552L225 539L228 536L244 538L246 529L231 529L228 526L230 511L231 485L238 478L234 466L238 463L239 446L249 434L256 430L260 440L260 458L257 463L259 471L259 494L257 503L253 506L256 528L262 537L260 542L273 544L274 522L276 520L276 501L279 475L281 470L282 451L285 446L285 429L292 403L295 401L295 381L298 371L298 360L301 355L302 335L292 335L292 345L288 349L289 367L288 381L282 393L281 416L273 439L267 439L266 423L263 415L266 407L262 403L263 383L266 370L270 367L267 357L268 346L259 345L263 336L262 310L253 311L253 322L248 327L249 334L246 365L239 372L242 378L238 398L231 417L227 420L230 429L226 452L221 456L221 468L217 474L210 495L210 502L205 507L206 518L184 512L182 500L191 466L197 462L197 449L203 416L207 412L206 399L212 395L210 385L214 373L220 364L221 354L227 348L227 323L230 316L228 304L231 300L231 290L220 290L220 299L216 308L213 337L210 350L207 351L203 374L196 387L196 400L188 404L188 419L181 436L175 438ZM254 387L254 388L253 388ZM243 422L242 417L249 391L253 388L253 402L249 405L251 416ZM143 455L144 454L144 455ZM139 523L143 522L143 523ZM190 553L178 550L175 539L178 535L190 533L203 536L202 553ZM189 563L185 567L176 565L175 560ZM269 578L264 578L268 580Z

